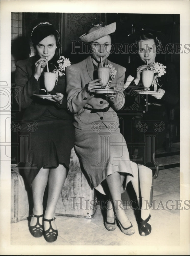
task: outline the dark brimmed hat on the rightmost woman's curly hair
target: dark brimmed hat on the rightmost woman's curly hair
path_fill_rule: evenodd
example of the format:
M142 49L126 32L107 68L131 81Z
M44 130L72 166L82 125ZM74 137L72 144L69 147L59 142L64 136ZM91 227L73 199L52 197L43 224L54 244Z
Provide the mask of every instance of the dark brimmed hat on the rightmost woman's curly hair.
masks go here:
M130 43L135 43L135 41L144 34L152 34L155 38L157 37L162 43L166 40L166 36L161 31L142 29L140 31L134 32L131 35L128 35L128 41Z

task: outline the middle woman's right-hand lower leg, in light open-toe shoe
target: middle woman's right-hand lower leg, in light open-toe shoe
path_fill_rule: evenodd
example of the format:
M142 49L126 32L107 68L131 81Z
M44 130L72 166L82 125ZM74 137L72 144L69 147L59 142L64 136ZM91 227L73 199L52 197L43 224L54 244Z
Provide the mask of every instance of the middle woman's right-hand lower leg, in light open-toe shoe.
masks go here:
M106 181L114 203L116 217L122 223L124 228L128 228L131 226L131 223L124 212L121 200L121 176L118 172L115 172L111 175L108 175Z

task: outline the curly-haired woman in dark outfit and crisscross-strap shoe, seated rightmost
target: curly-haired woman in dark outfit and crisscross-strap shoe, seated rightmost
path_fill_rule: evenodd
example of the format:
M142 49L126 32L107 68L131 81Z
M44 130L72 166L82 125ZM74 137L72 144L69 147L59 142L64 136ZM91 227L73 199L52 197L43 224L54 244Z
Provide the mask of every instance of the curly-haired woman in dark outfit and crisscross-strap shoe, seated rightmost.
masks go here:
M121 116L123 135L129 145L130 160L133 161L134 178L131 182L137 198L139 195L142 198L141 202L138 202L141 210L137 219L141 236L151 232L150 209L147 207L147 202L150 199L152 177L156 170L153 153L163 146L166 137L168 122L166 106L176 104L179 99L176 71L171 63L162 63L166 67L166 73L154 74L153 84L149 90L157 91L156 95L151 95L149 91L139 94L144 90L142 71L149 69L157 61L157 49L161 44L159 35L160 33L152 30L141 30L132 34L131 38L133 43L136 43L138 52L136 60L127 67L126 105L123 108L125 112ZM136 160L134 160L135 147L138 149Z

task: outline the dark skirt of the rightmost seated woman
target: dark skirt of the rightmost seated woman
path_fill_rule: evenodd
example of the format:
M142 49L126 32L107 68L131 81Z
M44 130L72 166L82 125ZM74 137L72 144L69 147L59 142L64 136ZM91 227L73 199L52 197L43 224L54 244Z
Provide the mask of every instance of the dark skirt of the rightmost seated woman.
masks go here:
M156 172L153 153L166 140L168 117L162 106L150 106L143 114L120 117L121 132L128 145L130 160Z

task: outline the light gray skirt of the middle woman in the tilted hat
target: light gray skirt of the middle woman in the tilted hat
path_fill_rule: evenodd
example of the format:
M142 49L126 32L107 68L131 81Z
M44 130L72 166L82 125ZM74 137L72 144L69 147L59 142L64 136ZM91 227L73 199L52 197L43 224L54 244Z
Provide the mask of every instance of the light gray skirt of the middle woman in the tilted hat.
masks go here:
M107 128L102 123L89 129L75 128L74 147L94 188L108 194L104 180L119 172L125 176L121 193L125 191L133 172L128 148L118 127L110 125Z

